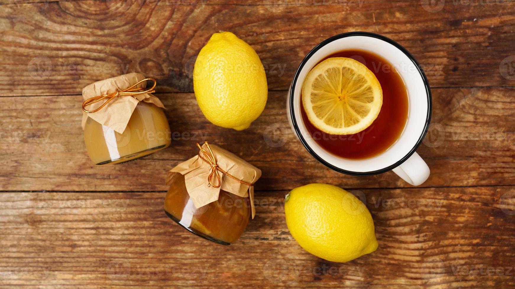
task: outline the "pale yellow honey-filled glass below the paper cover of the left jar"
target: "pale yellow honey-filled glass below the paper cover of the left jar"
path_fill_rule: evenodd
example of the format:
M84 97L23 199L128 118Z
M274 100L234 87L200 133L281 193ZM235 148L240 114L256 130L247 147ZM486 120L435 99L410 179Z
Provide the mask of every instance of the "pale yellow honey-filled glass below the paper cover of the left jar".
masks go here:
M166 115L154 104L140 102L123 133L88 118L84 141L90 159L97 165L118 164L150 155L170 145Z

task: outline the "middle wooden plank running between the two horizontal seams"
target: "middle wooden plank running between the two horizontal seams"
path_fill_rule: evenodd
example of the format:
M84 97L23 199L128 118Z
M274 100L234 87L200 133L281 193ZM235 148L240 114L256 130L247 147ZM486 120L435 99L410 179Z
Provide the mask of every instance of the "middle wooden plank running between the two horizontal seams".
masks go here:
M418 153L431 168L423 186L515 184L515 99L511 89L433 89L434 123ZM263 170L257 189L322 182L342 187L410 187L392 172L339 174L316 161L286 117L286 92L270 92L249 129L209 123L193 93L161 93L172 145L145 159L95 166L85 151L81 97L0 98L0 190L166 190L166 172L194 156L196 142L225 147ZM275 129L275 130L274 130Z

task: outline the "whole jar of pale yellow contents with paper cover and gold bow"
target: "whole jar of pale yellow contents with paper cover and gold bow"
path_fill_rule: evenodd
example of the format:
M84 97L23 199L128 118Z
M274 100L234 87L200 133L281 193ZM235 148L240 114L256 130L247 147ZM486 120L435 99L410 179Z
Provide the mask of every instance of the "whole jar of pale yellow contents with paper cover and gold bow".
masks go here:
M116 93L144 80L141 73L129 73L92 83L82 89L87 100ZM145 88L142 82L137 87ZM100 107L104 101L88 106ZM151 93L115 97L92 113L83 112L82 129L90 159L97 165L117 164L161 150L170 145L171 134L163 103Z

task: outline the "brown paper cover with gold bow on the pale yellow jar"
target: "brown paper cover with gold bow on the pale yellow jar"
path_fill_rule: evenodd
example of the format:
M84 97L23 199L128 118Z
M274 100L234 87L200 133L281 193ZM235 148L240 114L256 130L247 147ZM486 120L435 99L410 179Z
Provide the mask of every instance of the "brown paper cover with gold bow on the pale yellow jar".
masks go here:
M154 85L146 89L146 81ZM82 105L82 129L88 117L118 133L123 133L136 105L141 101L165 108L163 103L151 92L156 81L146 79L141 73L128 73L114 78L97 81L82 89L85 102ZM88 106L88 109L85 107Z

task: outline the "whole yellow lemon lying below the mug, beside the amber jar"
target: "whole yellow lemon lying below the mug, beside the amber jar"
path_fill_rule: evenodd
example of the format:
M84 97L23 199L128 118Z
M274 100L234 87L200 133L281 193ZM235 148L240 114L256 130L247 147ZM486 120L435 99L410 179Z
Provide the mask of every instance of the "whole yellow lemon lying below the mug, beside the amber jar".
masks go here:
M367 207L339 187L309 184L295 188L286 195L284 213L291 236L317 257L347 262L377 249Z

